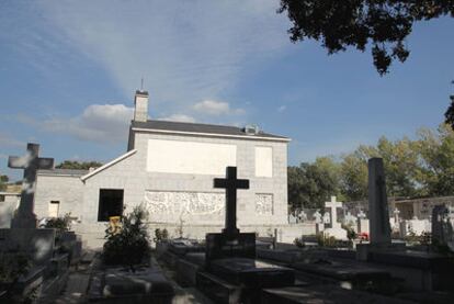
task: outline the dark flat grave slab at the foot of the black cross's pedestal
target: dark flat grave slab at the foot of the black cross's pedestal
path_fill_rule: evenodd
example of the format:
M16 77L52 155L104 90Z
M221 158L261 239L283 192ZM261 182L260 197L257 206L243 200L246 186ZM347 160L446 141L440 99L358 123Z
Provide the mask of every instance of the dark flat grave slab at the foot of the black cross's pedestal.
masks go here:
M211 272L230 283L253 289L287 286L295 282L295 273L290 268L245 258L215 260Z

